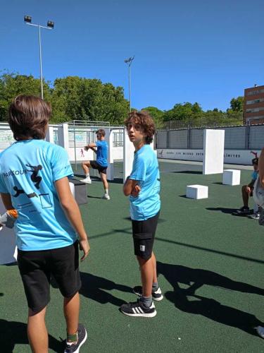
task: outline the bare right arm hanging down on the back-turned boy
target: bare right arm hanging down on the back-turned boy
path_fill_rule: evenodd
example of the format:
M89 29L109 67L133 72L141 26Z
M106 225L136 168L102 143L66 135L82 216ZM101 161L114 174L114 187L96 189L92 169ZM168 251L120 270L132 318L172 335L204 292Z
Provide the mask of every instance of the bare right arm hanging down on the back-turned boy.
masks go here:
M65 215L68 217L68 220L73 225L73 228L79 236L80 249L83 251L83 256L81 260L87 257L90 246L87 239L87 234L82 223L82 217L80 214L79 207L73 197L73 194L70 191L70 184L68 177L64 177L55 181L56 191L58 193L58 198L61 203Z

